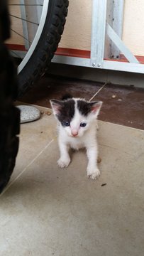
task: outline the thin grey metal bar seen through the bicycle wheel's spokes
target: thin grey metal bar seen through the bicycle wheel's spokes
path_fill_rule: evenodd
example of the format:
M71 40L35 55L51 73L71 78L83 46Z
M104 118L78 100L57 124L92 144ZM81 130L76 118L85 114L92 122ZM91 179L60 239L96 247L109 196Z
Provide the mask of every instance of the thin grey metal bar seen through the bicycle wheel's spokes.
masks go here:
M27 19L26 18L26 8L25 8L25 0L20 0L20 4L21 4L21 18L23 19ZM24 38L28 38L28 26L27 26L27 22L22 20L22 25L23 25L23 36ZM28 50L30 47L29 42L26 39L23 39L24 43L25 43L25 48Z

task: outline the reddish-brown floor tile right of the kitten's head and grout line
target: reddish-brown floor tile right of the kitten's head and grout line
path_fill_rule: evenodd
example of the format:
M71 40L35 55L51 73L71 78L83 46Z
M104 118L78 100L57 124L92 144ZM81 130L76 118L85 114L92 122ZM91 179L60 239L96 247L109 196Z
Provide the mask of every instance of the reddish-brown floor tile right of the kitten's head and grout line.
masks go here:
M104 105L99 119L144 129L144 90L135 87L106 85L94 98Z

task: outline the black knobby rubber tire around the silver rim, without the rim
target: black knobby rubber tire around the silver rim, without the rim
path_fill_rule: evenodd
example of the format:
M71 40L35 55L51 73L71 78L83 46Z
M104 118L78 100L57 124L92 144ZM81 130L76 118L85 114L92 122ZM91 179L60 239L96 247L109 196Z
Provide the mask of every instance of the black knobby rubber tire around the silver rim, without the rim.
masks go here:
M68 4L68 0L49 0L40 39L28 63L18 73L18 97L30 89L48 69L64 30Z

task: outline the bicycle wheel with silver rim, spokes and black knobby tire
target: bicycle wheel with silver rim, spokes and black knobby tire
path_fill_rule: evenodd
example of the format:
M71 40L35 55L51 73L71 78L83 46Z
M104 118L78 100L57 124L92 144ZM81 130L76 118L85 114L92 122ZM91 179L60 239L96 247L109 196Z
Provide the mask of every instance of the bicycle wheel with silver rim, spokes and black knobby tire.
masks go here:
M35 1L38 3L38 0L22 1L21 6L38 6ZM48 69L64 30L68 4L68 0L43 0L43 11L35 38L18 66L18 97L21 97Z

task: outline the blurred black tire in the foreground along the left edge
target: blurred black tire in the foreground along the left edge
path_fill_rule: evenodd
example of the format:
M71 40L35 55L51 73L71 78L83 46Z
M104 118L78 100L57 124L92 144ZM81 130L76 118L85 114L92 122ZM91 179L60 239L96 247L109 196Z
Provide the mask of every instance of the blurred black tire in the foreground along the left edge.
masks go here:
M11 178L16 164L20 132L20 112L14 107L18 92L17 70L4 41L9 38L7 2L0 3L0 193ZM6 25L7 24L7 25Z

